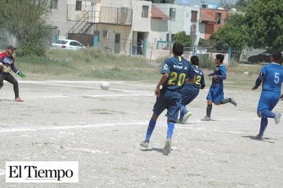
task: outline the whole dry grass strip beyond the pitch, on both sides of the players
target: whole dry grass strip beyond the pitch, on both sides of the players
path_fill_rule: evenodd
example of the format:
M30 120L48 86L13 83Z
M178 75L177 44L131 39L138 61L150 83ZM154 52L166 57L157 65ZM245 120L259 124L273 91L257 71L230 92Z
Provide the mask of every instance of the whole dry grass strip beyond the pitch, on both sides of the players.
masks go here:
M16 58L16 67L34 80L143 80L158 82L163 58L156 62L140 57L108 54L100 49L49 50L46 57ZM227 64L225 87L249 89L262 65ZM205 73L212 69L203 69ZM207 86L210 78L205 79Z

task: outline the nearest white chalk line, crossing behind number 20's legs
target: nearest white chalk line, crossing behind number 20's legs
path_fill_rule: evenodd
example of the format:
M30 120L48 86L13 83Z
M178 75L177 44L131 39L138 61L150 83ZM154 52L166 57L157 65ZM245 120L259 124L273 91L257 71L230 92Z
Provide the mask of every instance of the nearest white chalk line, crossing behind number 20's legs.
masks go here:
M234 119L229 121L242 121L243 119ZM244 119L244 120L253 120L253 119ZM196 124L198 122L202 121L190 121L192 124ZM68 130L68 129L77 129L77 128L98 128L98 127L110 127L110 126L146 126L148 125L148 121L144 122L136 122L136 123L120 123L120 124L90 124L90 125L84 125L84 126L56 126L56 127L43 127L43 128L11 128L11 129L3 129L0 130L0 132L33 132L33 131L41 131L41 130ZM175 124L176 125L176 124ZM183 129L190 129L190 130L203 130L203 131L210 131L210 132L226 132L226 133L232 133L232 134L252 134L249 132L237 132L237 131L229 131L229 130L213 130L213 129L207 129L207 128L192 128L185 125L179 126L177 124L176 128L183 128ZM157 126L166 126L166 121L159 122Z

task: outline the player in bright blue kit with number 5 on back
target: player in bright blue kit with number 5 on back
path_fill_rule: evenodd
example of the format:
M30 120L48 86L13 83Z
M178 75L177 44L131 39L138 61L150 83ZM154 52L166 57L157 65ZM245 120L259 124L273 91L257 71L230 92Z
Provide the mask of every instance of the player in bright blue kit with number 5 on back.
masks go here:
M262 93L258 102L258 117L260 121L260 133L256 139L263 139L264 130L267 128L268 119L274 118L275 124L279 124L281 113L273 113L272 110L278 104L281 95L281 84L283 82L283 67L280 65L282 54L280 51L273 51L270 56L271 63L265 65L260 70L260 75L256 79L256 84L252 90L258 89L262 83Z

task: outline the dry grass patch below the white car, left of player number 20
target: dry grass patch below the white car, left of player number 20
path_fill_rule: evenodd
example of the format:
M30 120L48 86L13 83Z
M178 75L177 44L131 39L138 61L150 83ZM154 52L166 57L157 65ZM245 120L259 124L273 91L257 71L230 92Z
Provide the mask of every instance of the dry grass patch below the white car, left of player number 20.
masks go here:
M18 58L16 66L31 79L155 80L157 64L138 57L118 56L100 49L49 50L46 57Z

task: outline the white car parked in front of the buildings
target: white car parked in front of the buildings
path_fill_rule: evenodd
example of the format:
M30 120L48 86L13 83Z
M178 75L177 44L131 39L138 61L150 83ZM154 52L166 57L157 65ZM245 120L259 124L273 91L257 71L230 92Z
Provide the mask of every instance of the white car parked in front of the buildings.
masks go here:
M78 40L60 39L57 40L55 43L51 44L51 49L78 50L82 48L83 48L82 43L80 43Z

